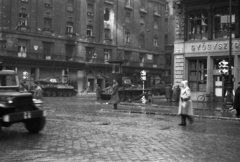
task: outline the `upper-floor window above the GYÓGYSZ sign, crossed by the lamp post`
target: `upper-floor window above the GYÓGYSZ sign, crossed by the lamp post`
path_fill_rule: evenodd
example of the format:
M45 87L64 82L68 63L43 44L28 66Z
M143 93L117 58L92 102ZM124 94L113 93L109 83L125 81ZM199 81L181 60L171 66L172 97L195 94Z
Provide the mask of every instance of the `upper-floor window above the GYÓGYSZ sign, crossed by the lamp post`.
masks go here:
M214 39L229 38L230 15L228 7L214 10ZM235 38L235 9L232 8L232 38Z

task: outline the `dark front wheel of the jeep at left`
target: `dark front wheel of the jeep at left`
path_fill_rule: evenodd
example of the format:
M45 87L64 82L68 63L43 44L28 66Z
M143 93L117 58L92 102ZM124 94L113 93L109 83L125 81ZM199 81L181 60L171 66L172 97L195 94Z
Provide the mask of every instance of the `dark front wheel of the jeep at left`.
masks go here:
M25 121L25 128L30 133L38 133L41 131L46 123L46 118L35 118L35 119L29 119Z

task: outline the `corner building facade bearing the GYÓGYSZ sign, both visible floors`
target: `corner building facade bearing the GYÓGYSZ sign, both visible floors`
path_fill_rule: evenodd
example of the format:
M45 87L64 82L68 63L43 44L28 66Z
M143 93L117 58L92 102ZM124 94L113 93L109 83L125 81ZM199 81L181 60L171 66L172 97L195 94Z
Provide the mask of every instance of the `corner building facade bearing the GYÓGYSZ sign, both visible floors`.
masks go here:
M232 0L176 0L174 82L186 79L196 100L213 93L219 101L226 95L226 77L219 72L219 62L231 60L234 87L240 81L239 36L240 4ZM232 53L229 54L230 17ZM231 56L231 57L230 57ZM230 59L231 58L231 59Z

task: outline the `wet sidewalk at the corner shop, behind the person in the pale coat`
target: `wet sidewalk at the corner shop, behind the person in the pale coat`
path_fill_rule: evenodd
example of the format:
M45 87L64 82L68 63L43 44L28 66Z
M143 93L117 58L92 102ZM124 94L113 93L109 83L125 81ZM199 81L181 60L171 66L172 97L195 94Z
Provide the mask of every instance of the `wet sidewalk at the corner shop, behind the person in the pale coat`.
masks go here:
M96 100L94 94L78 95L80 98L87 98ZM107 101L102 101L106 103ZM142 104L140 101L135 102L121 102L117 110L127 113L145 113L145 114L159 114L159 115L171 115L176 116L178 113L178 102L168 102L165 96L153 97L152 103ZM225 108L223 102L197 102L193 101L194 117L197 118L210 118L221 120L239 120L235 116L235 110L229 110ZM104 110L108 111L108 110Z

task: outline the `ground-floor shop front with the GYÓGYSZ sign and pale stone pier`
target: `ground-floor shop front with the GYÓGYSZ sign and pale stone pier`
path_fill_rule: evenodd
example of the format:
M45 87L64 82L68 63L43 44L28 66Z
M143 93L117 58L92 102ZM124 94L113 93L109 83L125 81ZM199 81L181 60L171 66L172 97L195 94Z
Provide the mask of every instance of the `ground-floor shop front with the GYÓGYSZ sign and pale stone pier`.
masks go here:
M174 54L174 84L188 80L192 100L197 100L200 95L203 95L205 101L224 101L228 74L222 75L219 72L219 62L223 60L229 62L227 46L227 41L177 44ZM238 40L233 41L232 49L231 63L235 90L237 83L240 82Z

